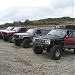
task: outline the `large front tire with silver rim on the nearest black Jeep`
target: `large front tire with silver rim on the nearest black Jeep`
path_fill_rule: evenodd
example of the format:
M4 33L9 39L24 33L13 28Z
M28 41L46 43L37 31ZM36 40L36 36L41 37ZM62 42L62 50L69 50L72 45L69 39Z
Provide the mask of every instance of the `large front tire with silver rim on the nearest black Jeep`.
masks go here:
M50 56L53 60L59 60L61 58L62 48L60 45L54 45L50 50Z

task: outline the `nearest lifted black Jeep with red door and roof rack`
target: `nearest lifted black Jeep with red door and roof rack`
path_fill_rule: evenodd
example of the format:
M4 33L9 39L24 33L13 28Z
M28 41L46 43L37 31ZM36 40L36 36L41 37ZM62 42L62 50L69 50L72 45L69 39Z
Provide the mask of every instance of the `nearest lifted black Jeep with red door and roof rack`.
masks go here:
M57 28L51 30L46 36L40 36L33 39L33 52L41 54L46 50L52 59L61 58L62 51L66 48L73 48L75 53L75 31L74 27Z

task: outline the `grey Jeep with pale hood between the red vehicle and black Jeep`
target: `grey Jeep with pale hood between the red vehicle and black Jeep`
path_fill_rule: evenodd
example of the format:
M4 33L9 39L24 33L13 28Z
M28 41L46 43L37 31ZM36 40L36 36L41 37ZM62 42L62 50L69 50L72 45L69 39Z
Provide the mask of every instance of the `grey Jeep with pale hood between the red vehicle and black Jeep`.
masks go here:
M33 37L46 35L50 29L45 28L32 28L26 33L14 34L14 44L16 46L22 45L23 48L29 48L32 43Z

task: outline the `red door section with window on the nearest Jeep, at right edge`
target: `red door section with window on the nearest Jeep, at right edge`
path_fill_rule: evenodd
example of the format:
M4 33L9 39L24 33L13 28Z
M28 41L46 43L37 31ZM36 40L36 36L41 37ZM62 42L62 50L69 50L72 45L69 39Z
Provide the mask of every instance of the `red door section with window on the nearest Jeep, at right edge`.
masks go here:
M64 38L64 47L74 49L75 53L75 30L70 30L69 34Z

